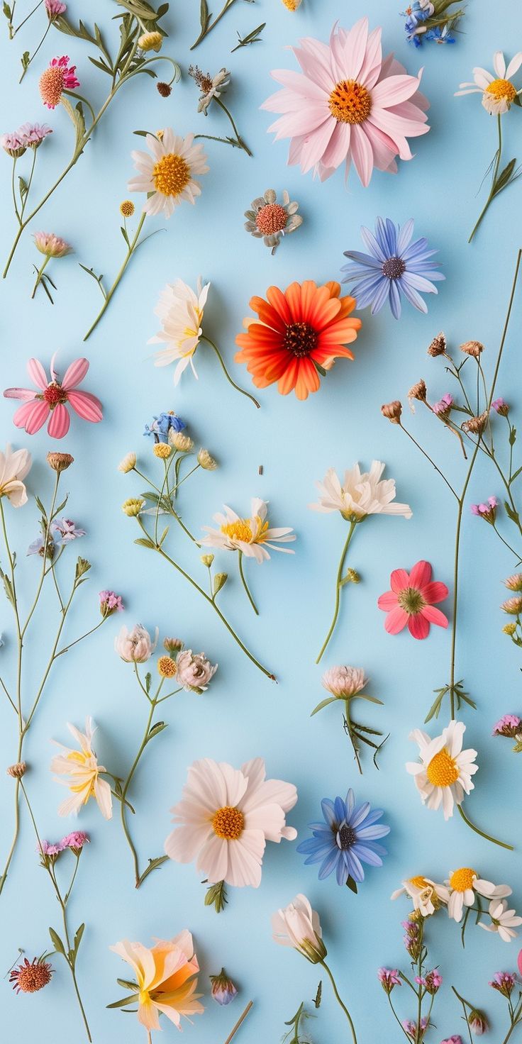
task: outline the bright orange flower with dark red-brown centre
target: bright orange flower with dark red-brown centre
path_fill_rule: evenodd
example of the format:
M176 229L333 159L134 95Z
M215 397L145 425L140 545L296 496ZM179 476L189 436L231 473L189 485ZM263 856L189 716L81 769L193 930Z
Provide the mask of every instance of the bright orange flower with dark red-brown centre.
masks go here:
M259 322L244 321L246 333L236 337L241 348L236 362L246 363L256 387L277 381L281 395L294 390L298 399L308 399L336 358L354 357L345 346L361 328L360 319L349 317L355 299L341 298L339 283L317 286L312 280L291 283L284 292L270 286L266 296L251 299Z

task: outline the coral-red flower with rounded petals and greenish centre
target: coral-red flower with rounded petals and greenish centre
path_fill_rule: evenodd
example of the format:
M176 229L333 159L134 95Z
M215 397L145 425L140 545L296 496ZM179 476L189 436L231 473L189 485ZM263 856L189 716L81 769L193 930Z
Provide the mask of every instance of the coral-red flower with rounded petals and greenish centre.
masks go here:
M441 580L431 579L429 562L418 562L410 573L405 569L394 569L389 577L392 590L381 594L377 601L379 609L387 613L384 627L388 635L398 635L408 625L413 638L427 638L430 623L447 627L448 620L436 601L448 597L448 588Z

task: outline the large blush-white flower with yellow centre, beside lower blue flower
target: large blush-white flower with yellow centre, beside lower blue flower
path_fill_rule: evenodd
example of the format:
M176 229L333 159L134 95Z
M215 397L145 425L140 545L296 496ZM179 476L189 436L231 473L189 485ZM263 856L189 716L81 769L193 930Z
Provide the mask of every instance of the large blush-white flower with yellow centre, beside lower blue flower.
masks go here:
M296 800L293 784L266 779L262 758L241 769L210 758L195 761L183 798L171 809L176 826L165 852L175 862L195 859L210 884L257 888L266 841L296 837L285 818Z

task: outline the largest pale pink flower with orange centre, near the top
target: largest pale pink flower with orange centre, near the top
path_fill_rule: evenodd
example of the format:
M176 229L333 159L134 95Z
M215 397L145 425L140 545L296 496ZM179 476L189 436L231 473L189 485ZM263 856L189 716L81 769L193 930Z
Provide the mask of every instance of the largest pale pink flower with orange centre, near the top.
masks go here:
M397 171L396 157L411 160L407 138L426 134L427 99L419 76L408 76L393 54L382 58L381 29L366 18L352 29L334 26L330 44L308 37L292 48L302 73L276 69L283 85L261 109L282 115L268 130L290 138L288 163L313 169L321 181L353 159L364 186L374 167ZM421 70L422 72L422 70Z

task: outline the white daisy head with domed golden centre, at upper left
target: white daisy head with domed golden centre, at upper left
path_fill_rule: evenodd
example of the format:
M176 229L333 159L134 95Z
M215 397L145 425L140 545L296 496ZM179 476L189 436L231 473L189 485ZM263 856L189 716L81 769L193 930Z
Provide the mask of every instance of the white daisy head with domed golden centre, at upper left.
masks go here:
M171 127L162 132L161 141L152 134L147 134L145 141L151 155L141 149L130 153L139 174L129 181L128 191L147 193L143 205L146 214L170 217L184 199L194 204L200 195L195 177L207 173L207 157L203 145L193 144L193 134L182 138Z

